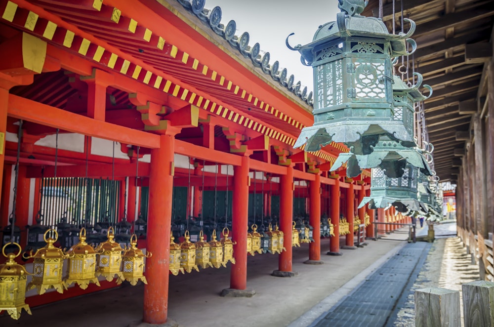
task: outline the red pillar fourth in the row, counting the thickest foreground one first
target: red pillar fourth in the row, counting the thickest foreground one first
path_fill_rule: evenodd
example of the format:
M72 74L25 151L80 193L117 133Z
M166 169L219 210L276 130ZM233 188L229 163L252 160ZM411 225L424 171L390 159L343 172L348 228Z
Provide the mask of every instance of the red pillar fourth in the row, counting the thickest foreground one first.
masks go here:
M314 228L309 243L309 260L304 263L321 264L321 175L315 174L315 180L309 185L309 224Z

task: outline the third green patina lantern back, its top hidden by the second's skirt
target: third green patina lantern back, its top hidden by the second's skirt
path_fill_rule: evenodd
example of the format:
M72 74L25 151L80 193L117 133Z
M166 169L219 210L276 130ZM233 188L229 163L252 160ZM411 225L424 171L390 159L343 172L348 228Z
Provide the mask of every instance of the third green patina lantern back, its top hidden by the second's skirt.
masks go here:
M371 196L365 197L359 208L369 203L371 209L394 205L399 212L425 210L425 205L417 201L417 170L407 164L402 177L391 178L381 168L372 168Z

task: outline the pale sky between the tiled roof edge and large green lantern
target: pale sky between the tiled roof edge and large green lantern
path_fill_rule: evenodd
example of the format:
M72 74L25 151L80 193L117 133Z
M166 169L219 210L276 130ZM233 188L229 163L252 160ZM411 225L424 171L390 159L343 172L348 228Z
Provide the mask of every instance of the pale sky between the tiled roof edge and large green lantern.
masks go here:
M247 32L250 46L259 42L261 51L270 53L270 64L278 60L288 76L295 76L295 83L313 91L312 68L302 65L300 54L289 50L285 40L295 33L289 39L292 46L311 42L319 25L336 20L338 0L206 0L206 9L215 6L221 7L221 24L235 20L235 35Z

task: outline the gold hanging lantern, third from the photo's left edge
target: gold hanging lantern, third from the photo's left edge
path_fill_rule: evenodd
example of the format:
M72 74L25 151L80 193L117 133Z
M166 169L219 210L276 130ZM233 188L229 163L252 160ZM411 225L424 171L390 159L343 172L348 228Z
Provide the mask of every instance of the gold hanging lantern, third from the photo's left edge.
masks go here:
M81 228L79 243L73 245L68 251L69 262L67 265L67 277L65 289L72 283L77 283L82 289L86 289L89 283L99 285L96 277L96 251L86 242L86 229Z

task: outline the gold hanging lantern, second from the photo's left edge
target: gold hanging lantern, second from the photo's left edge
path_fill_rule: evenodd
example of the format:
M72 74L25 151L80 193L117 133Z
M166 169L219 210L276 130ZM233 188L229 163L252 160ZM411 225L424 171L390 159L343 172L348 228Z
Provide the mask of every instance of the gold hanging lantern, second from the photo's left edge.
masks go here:
M52 237L46 236L51 233ZM26 256L25 259L33 259L33 279L28 284L26 290L36 288L38 294L43 294L49 288L55 288L57 292L63 293L65 287L62 281L63 260L68 257L61 248L55 247L53 243L58 240L58 233L54 229L48 229L43 234L43 240L46 242L44 247L36 251L34 255Z

